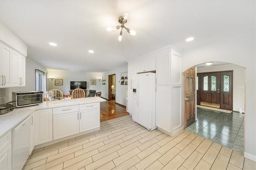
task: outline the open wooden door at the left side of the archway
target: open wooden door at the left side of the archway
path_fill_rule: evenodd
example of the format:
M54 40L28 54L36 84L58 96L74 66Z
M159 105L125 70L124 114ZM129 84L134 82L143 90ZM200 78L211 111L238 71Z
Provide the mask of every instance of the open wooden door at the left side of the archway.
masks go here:
M195 67L184 73L184 106L185 106L185 127L195 121Z

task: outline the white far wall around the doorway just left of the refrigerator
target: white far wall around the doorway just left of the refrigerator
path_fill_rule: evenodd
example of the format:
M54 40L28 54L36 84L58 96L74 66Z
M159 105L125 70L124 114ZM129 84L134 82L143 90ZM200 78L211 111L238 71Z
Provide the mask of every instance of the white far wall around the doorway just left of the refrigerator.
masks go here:
M102 77L104 77L103 79L106 79L106 84L105 85L101 84L101 92L102 92L102 97L108 99L108 75L116 74L116 86L115 86L116 103L126 106L126 91L128 86L120 85L122 81L120 80L121 73L123 72L128 72L128 64L126 66L102 73Z

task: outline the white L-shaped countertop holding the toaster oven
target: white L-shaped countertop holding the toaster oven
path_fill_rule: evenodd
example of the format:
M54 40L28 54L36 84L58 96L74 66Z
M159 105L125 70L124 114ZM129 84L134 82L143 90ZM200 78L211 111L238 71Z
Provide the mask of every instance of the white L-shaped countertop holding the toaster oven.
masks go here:
M36 110L50 109L63 106L73 106L80 104L98 103L105 101L105 99L102 99L100 97L91 97L72 99L69 101L47 101L43 102L40 105L15 108L13 111L0 115L0 137L11 131L14 127L16 127L20 122L22 122L24 119L26 119L26 117L28 117L31 113L33 113Z

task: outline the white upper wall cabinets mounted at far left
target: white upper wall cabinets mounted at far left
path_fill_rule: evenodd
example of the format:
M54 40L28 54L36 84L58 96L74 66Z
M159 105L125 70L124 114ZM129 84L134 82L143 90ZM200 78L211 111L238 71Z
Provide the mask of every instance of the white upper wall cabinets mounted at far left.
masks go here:
M0 88L26 86L26 57L0 43Z

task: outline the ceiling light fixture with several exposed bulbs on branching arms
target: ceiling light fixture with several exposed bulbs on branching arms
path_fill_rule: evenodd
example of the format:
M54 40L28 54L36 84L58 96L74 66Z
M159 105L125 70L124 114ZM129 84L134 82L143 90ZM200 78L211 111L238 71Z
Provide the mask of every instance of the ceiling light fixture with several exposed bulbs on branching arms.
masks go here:
M121 25L106 28L107 31L113 31L113 32L118 30L119 28L121 28L121 32L118 37L119 41L122 41L123 28L127 30L127 32L130 34L130 36L136 35L136 31L124 26L124 24L127 22L127 17L128 17L128 14L125 13L124 16L120 16L118 18L118 22L121 23Z

